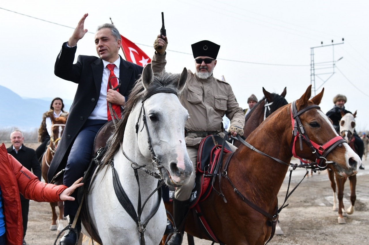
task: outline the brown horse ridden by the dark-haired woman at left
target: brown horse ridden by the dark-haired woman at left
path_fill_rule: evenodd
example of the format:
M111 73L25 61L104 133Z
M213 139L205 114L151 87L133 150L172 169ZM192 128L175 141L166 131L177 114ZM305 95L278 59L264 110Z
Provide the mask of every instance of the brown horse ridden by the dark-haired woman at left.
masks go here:
M52 127L51 127L50 144L47 150L45 151L44 155L42 156L42 167L41 167L42 168L42 178L44 178L46 183L48 183L47 172L49 171L51 160L54 157L56 148L58 147L59 141L62 137L66 120L67 119L62 116L58 118L51 117ZM63 182L55 183L55 184L61 185L62 183ZM59 233L64 228L64 225L63 225L64 204L63 202L57 202L57 203L50 203L50 206L51 206L51 211L52 211L52 221L50 225L50 230L52 231L57 230L57 232ZM56 206L59 207L58 226L56 225L56 218L58 217L55 211Z

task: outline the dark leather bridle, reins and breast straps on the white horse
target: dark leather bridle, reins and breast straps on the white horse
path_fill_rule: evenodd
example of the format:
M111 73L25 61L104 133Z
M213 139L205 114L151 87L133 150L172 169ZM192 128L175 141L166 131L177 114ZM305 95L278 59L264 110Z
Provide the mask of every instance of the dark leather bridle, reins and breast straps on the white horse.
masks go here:
M118 84L117 87L113 88L113 90L116 90L119 86L120 86L120 83ZM140 113L139 113L139 116L137 118L137 122L136 122L136 125L135 125L136 135L138 137L138 127L139 127L138 126L138 122L139 122L139 119L141 118L141 115L142 115L142 120L144 122L144 126L142 127L142 129L141 129L140 132L142 132L142 130L145 127L146 133L147 133L147 136L148 136L148 139L147 139L147 141L148 141L148 148L149 148L149 151L151 152L152 166L155 169L157 169L159 171L159 173L150 171L149 169L145 168L146 165L138 165L136 162L132 161L127 156L127 154L125 154L125 152L123 150L122 142L120 142L121 151L122 151L123 155L131 162L131 167L134 170L134 175L136 177L136 181L137 181L137 185L138 185L137 212L134 209L134 206L133 206L131 200L129 199L129 197L125 193L125 191L123 189L123 186L121 185L121 182L119 180L118 173L117 173L117 171L114 168L114 161L113 160L110 161L111 170L112 170L112 174L113 174L113 187L114 187L115 195L117 196L117 199L120 202L121 206L124 208L124 210L128 213L128 215L132 218L132 220L135 221L135 223L137 224L137 230L140 233L140 244L141 245L145 245L144 232L146 230L146 225L149 223L149 221L151 220L151 218L155 216L156 212L159 209L159 206L160 206L161 200L162 200L162 189L161 189L161 186L165 184L164 181L163 181L164 177L163 177L163 174L162 174L162 168L164 168L164 167L160 164L160 160L158 159L158 157L156 157L156 154L154 152L154 149L152 148L152 143L151 143L151 138L150 138L150 134L149 134L149 129L148 129L148 126L147 126L147 120L146 120L146 112L145 112L144 102L146 101L146 99L148 99L152 95L158 94L158 93L163 93L163 92L164 93L175 94L175 95L178 96L177 92L175 92L174 90L168 89L168 88L160 88L159 90L156 90L156 91L154 91L154 92L146 95L145 98L142 100L141 110L140 110ZM110 102L108 102L108 103L110 103ZM111 105L109 105L109 109L110 109L110 113L113 113L112 111L114 111L114 110L113 110L113 108L111 108ZM111 114L111 115L113 115L113 114ZM114 114L114 116L115 115L116 115L116 113ZM115 126L115 129L116 129L114 116L112 116L112 118L113 118L114 126ZM146 200L145 200L145 202L144 202L144 204L142 206L141 206L141 190L140 190L140 184L139 184L138 169L141 169L146 174L151 175L154 178L156 178L156 179L159 180L158 181L158 186L146 198ZM142 222L141 221L141 214L142 214L142 211L143 211L143 209L145 207L145 204L150 199L150 197L152 195L154 195L154 193L156 193L156 192L158 192L159 195L158 195L158 199L156 200L155 207L151 211L151 213L150 213L149 217L147 218L147 220L145 222Z

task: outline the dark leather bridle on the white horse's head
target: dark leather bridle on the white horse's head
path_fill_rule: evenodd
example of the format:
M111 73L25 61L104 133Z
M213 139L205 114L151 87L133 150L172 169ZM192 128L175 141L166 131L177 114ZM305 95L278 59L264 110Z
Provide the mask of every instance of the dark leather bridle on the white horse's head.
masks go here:
M160 88L159 90L155 90L155 91L151 92L150 94L147 94L145 96L145 98L142 99L142 106L141 106L141 110L140 110L140 113L139 113L138 118L137 118L137 122L136 122L135 128L136 128L136 134L137 134L137 137L138 137L138 122L139 122L139 119L141 118L141 114L142 114L142 121L144 122L144 126L145 126L146 133L147 133L148 148L149 148L149 151L151 152L152 166L159 171L159 174L157 174L155 172L151 172L148 169L144 169L144 170L145 170L145 172L147 174L152 175L155 178L158 178L159 180L162 181L164 179L164 176L163 176L163 173L162 173L162 168L164 168L164 166L160 164L160 160L158 159L158 157L156 157L156 154L154 152L154 149L152 148L151 137L150 137L150 133L149 133L149 128L147 126L146 112L145 112L145 106L144 106L144 103L145 103L146 99L148 99L152 95L158 94L158 93L170 93L170 94L175 94L176 96L178 96L178 94L177 94L176 91L171 90L169 88ZM142 111L143 111L143 113L142 113ZM142 127L142 129L140 130L140 132L143 129L144 129L144 127ZM136 166L138 166L135 162L133 162L133 161L131 161L131 162L132 162L132 164L135 164ZM139 167L139 168L143 168L143 167L144 166ZM173 184L173 186L179 187L179 185L176 185L174 183L172 183L172 184Z

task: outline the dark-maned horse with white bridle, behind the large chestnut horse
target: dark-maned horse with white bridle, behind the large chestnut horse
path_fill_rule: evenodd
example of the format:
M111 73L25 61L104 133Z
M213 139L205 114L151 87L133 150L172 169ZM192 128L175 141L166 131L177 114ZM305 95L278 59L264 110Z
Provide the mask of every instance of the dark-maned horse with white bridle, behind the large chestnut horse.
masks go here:
M273 112L275 112L278 108L283 105L287 105L286 99L286 87L284 88L282 94L278 95L275 93L270 93L263 88L264 98L261 99L248 113L245 118L245 126L244 126L244 137L247 138L251 134L252 131L258 127L265 118L270 116ZM241 142L235 140L233 142L234 146L241 146Z

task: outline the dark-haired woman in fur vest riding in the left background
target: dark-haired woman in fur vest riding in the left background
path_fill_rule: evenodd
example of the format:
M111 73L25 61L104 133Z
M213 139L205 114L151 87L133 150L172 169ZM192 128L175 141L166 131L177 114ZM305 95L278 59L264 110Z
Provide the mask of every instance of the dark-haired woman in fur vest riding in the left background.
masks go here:
M68 117L68 112L63 111L64 103L59 97L54 98L50 104L50 110L42 115L41 126L38 129L38 142L42 142L36 149L37 159L39 160L45 152L46 146L50 141L52 120L51 118L58 118L63 116Z

